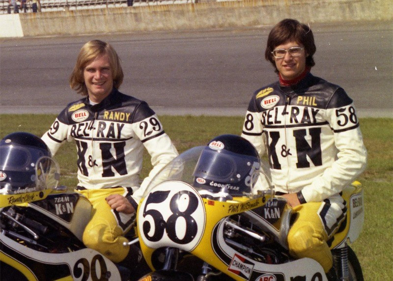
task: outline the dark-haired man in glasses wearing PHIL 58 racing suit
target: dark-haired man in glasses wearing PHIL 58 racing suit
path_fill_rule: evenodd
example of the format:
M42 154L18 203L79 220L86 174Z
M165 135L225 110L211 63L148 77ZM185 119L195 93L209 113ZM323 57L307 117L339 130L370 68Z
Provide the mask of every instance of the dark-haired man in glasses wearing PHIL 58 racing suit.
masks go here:
M297 213L290 253L318 261L337 280L326 241L345 218L340 193L365 169L367 156L352 99L310 73L315 51L311 29L296 20L270 31L265 58L279 81L253 94L242 137L267 153L275 190ZM255 192L266 188L261 179L256 186Z

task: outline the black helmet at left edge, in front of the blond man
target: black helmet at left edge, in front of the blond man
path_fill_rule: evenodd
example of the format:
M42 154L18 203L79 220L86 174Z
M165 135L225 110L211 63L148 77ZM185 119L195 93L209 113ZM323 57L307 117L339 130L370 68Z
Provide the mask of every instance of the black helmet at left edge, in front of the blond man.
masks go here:
M0 141L1 194L56 188L58 179L58 165L40 138L16 132Z

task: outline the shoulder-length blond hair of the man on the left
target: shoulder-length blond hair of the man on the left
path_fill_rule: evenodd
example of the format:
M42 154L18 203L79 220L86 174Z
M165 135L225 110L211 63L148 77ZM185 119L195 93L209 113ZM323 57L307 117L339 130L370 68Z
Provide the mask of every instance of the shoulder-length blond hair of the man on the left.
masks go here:
M100 40L91 40L83 45L79 52L77 63L71 73L69 83L71 89L84 96L87 96L87 88L84 84L84 68L97 56L108 55L111 65L113 87L118 89L123 82L123 70L120 65L120 58L117 56L113 47L106 42Z

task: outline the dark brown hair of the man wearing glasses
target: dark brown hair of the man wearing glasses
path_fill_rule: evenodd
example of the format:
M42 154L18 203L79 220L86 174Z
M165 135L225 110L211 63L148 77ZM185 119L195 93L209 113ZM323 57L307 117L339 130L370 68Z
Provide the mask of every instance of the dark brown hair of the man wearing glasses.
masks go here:
M297 20L285 19L279 22L272 28L267 38L267 45L265 50L265 58L270 61L276 68L276 62L272 54L273 50L288 41L294 41L302 44L306 51L306 66L312 67L315 65L313 55L316 47L314 43L314 35L309 26L301 24ZM279 72L276 68L277 73Z

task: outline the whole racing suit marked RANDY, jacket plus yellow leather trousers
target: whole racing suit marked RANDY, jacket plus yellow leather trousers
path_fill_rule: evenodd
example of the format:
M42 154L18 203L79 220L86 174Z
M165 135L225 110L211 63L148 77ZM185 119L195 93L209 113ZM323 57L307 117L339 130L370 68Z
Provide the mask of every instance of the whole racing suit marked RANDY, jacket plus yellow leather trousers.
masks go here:
M136 215L112 210L105 198L120 194L136 209L140 197L133 193L140 186L143 147L151 156L153 169L143 180L142 189L178 155L155 112L144 101L113 88L99 104L90 105L88 97L68 104L42 140L53 155L65 140L75 140L77 190L94 209L83 242L114 262L123 260L129 248L123 246L128 240L122 235L132 227Z

